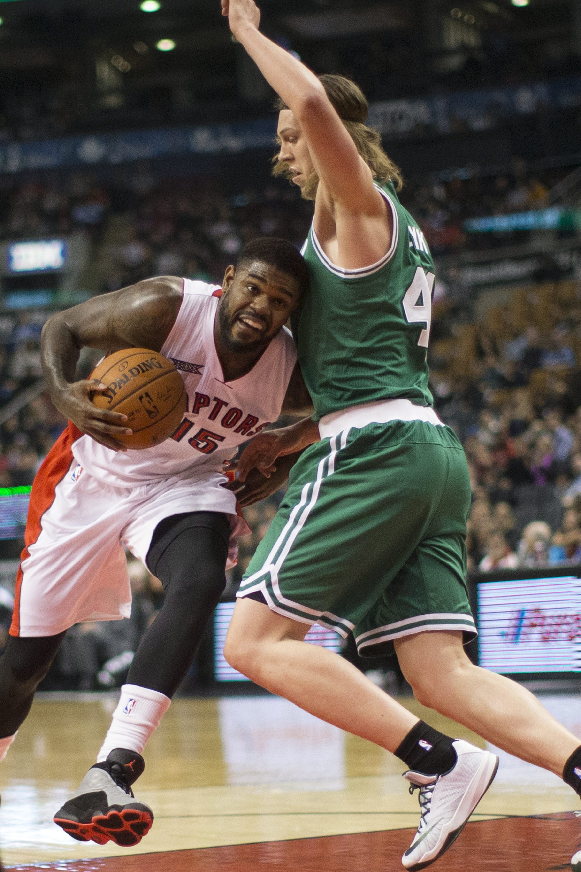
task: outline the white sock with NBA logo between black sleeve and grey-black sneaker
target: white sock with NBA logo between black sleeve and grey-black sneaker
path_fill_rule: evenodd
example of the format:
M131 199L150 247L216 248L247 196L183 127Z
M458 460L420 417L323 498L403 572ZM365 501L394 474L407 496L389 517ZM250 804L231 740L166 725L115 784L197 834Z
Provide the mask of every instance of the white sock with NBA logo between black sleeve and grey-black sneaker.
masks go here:
M107 759L113 748L127 748L143 752L150 736L159 726L172 700L159 691L150 691L138 685L123 685L121 698L115 711L97 762ZM6 741L6 739L3 739Z

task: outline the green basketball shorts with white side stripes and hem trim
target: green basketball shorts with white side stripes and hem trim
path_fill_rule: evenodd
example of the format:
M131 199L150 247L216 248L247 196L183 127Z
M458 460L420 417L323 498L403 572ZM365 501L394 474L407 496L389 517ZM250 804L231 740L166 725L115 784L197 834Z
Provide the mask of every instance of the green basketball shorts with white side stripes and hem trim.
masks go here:
M347 637L362 655L426 630L476 636L466 589L470 478L447 426L390 421L307 448L238 596Z

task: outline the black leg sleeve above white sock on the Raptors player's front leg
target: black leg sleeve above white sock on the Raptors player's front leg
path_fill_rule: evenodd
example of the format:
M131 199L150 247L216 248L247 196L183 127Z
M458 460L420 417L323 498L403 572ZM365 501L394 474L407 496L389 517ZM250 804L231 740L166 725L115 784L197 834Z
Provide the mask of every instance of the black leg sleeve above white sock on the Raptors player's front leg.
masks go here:
M226 587L230 522L219 512L176 514L158 524L147 566L166 589L138 646L127 683L172 697L193 663Z

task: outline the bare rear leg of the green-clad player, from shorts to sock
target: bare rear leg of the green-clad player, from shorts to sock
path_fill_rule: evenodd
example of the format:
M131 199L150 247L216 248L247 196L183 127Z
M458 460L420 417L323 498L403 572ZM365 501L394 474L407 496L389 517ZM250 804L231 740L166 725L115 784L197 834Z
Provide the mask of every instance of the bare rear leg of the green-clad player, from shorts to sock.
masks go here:
M462 633L435 631L395 640L403 675L415 698L456 720L503 751L559 776L577 739L530 691L470 663Z

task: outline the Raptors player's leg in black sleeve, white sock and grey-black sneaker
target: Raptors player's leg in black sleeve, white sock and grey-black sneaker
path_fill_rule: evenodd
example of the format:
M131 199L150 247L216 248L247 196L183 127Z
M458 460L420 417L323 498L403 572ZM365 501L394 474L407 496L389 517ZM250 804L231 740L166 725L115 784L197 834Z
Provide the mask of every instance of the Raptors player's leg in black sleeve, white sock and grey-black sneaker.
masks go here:
M158 524L147 565L166 598L133 658L97 764L55 814L73 838L130 846L151 828L152 810L134 800L132 784L226 586L229 539L230 522L217 512L172 515Z

